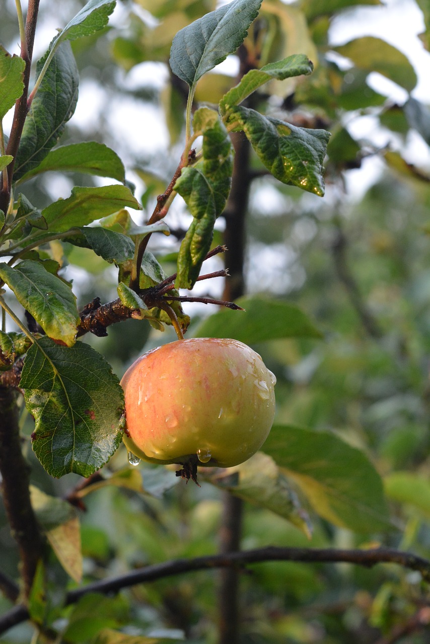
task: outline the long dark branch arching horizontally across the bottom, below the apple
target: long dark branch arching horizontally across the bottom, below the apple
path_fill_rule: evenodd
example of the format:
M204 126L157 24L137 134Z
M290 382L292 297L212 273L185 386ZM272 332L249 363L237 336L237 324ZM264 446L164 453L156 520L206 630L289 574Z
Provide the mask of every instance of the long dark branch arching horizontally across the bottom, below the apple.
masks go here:
M69 591L66 605L76 603L89 592L107 594L119 592L139 583L156 580L176 574L191 573L200 570L217 568L244 568L247 564L259 564L268 561L306 562L308 564L332 564L346 562L349 564L373 567L376 564L398 564L404 568L418 571L425 582L430 583L430 561L412 553L397 551L392 548L375 548L372 550L337 550L331 548L282 548L269 546L255 550L226 554L213 554L195 559L177 559L162 564L148 565L101 582L89 583L83 588ZM28 619L28 611L23 606L16 606L0 618L0 634Z

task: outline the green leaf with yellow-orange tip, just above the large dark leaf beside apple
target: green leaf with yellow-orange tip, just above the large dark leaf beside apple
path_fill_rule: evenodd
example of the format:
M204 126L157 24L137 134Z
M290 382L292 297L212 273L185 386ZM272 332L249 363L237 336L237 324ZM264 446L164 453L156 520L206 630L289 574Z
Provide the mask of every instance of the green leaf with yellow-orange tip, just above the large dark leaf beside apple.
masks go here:
M13 268L0 263L0 278L47 336L73 345L79 314L76 298L68 285L31 260L21 261Z

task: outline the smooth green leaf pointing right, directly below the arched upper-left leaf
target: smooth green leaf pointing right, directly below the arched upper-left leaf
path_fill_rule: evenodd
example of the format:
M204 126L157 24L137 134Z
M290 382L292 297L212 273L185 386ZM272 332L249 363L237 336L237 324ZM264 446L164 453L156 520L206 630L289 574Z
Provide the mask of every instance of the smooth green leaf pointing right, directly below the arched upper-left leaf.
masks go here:
M42 214L50 231L64 232L106 217L124 207L142 209L125 185L95 188L76 186L72 189L70 197L48 205Z

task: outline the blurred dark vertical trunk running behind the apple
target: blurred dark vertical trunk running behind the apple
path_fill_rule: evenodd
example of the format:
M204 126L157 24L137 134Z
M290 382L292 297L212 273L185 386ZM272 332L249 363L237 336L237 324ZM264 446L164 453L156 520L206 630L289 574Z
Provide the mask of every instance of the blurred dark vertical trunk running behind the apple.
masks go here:
M239 48L239 79L249 71L248 51L242 45ZM234 301L244 294L244 256L246 238L246 213L248 210L249 158L251 146L243 132L231 134L235 147L235 160L231 191L226 205L226 229L224 244L227 251L224 255L230 277L226 279L222 299ZM243 502L240 498L224 493L222 526L220 527L220 553L237 552L240 549L242 535ZM220 573L219 587L219 644L238 644L240 637L239 607L239 573L234 568L224 569Z

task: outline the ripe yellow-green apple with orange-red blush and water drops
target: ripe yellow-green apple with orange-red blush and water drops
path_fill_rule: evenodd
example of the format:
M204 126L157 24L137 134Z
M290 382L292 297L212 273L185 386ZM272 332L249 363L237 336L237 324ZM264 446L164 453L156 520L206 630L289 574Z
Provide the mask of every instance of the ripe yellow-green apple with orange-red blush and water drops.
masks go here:
M228 468L264 443L275 414L275 376L249 346L191 338L142 355L121 380L124 443L151 462Z

